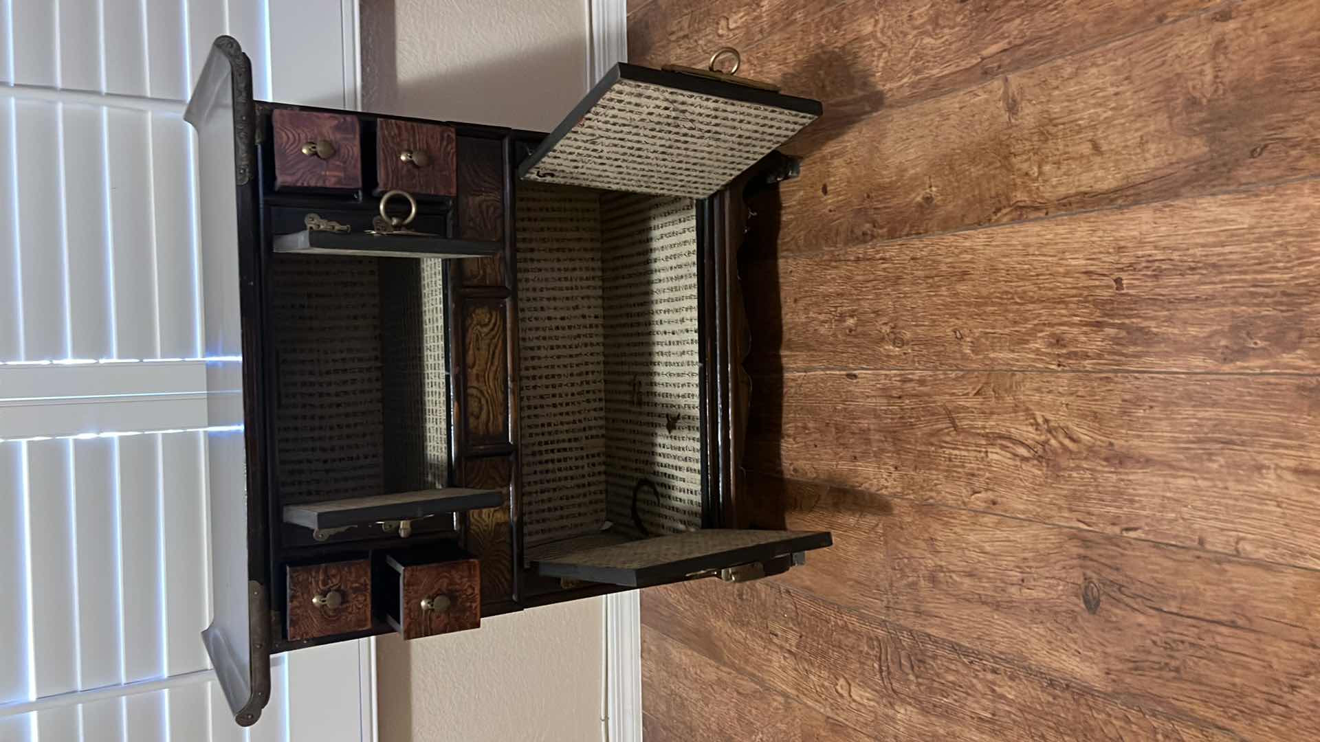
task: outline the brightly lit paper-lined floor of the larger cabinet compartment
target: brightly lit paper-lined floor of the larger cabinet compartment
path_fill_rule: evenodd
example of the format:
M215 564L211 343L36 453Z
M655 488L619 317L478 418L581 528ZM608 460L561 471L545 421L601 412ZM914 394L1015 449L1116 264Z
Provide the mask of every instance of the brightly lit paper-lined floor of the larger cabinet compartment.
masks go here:
M689 198L606 194L601 213L607 515L634 536L643 528L648 535L697 529L702 473L696 205Z

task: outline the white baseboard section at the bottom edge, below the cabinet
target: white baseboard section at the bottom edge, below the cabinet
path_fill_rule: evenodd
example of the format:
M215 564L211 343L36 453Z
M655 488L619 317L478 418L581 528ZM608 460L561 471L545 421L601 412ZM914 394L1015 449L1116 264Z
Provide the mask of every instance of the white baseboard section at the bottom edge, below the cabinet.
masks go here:
M607 742L642 742L642 593L605 598Z

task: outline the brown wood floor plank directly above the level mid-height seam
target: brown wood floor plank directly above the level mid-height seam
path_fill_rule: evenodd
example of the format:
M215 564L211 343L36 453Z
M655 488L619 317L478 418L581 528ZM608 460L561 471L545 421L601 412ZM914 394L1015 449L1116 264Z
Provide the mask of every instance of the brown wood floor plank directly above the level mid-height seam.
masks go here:
M1305 180L758 260L748 366L1313 371L1317 201Z

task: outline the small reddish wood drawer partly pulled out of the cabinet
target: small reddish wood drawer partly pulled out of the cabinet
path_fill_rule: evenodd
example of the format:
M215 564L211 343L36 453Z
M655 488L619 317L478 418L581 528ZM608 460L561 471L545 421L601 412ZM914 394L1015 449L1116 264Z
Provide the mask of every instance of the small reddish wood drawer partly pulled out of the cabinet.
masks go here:
M428 561L425 552L404 552L385 556L385 619L404 639L482 624L482 577L475 558Z

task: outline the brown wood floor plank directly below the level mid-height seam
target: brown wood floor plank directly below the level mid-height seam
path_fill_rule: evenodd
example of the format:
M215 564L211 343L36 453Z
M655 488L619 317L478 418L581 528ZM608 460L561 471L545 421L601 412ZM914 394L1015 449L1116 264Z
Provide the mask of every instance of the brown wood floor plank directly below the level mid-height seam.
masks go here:
M1320 569L1320 379L861 371L758 382L754 469Z

